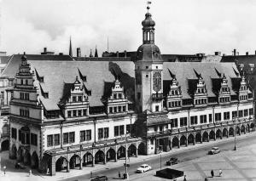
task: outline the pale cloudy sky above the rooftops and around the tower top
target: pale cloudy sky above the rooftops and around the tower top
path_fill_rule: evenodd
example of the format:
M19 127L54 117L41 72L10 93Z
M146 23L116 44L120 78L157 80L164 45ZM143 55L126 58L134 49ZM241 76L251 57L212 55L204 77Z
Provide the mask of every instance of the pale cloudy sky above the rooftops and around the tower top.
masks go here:
M97 47L136 51L142 44L146 0L0 0L0 51L88 56ZM255 0L152 0L161 54L254 54ZM108 46L109 45L109 46Z

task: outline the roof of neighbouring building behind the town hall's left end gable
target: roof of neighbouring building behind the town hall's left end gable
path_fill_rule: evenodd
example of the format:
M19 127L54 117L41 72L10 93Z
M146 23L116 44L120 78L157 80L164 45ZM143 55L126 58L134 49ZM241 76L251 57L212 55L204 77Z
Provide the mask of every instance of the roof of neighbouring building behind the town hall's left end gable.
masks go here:
M15 73L19 70L19 65L21 63L22 54L13 54L10 59L8 65L2 72L2 76L9 76L9 78L14 78ZM53 61L73 61L69 55L55 55L55 54L26 54L26 58L28 60L37 60L37 61L45 61L45 60L53 60Z

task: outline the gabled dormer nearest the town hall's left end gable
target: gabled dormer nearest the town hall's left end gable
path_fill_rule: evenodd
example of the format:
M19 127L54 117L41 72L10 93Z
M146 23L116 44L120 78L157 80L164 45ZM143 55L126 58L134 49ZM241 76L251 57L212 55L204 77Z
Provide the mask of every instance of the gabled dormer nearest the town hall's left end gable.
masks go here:
M65 83L65 95L61 99L61 107L67 119L89 116L88 94L85 93L84 84L79 81L78 76L73 83Z

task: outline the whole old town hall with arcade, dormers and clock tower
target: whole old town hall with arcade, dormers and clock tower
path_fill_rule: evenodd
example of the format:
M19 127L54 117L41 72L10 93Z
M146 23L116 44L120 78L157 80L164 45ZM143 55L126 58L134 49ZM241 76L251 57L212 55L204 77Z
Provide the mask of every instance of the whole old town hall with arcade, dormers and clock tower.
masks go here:
M234 63L163 62L150 13L142 25L134 62L22 56L11 159L55 175L254 130L253 93Z

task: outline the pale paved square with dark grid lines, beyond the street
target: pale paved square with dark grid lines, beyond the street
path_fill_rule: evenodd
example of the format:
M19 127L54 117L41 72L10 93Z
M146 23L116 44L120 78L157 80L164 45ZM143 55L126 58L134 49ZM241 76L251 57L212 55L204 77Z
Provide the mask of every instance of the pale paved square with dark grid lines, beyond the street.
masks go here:
M214 156L204 156L194 161L187 161L172 166L174 169L182 170L188 181L208 180L216 181L256 181L256 144L252 144L238 150L227 150ZM219 177L219 169L222 176ZM211 170L214 177L211 177ZM154 176L155 171L141 174L131 180L170 180ZM177 181L183 178L177 178Z

